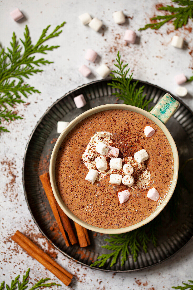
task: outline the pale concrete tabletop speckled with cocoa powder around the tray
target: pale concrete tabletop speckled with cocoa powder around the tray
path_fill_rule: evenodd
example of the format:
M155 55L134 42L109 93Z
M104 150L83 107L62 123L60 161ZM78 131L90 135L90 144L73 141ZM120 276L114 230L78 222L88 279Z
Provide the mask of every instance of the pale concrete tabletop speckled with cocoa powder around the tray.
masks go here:
M73 0L71 0L73 1ZM146 30L137 32L137 44L125 46L123 41L126 28L138 30L149 22L149 18L157 13L154 0L118 0L118 1L62 1L62 0L3 0L0 1L0 42L3 47L9 45L12 32L22 37L27 24L32 40L36 41L43 28L48 24L56 25L66 21L62 34L50 41L50 44L60 45L54 52L48 53L48 59L53 64L45 66L44 72L30 77L29 83L42 93L33 94L28 98L28 104L17 106L16 110L23 116L23 120L12 122L9 125L10 133L1 135L1 204L0 204L0 277L6 282L17 274L31 268L30 280L50 277L52 281L59 282L41 264L29 257L24 251L10 241L17 229L34 233L35 238L44 248L48 244L40 237L34 225L23 195L22 186L22 159L26 143L32 129L43 115L45 110L64 93L77 86L97 79L94 72L98 63L107 63L110 68L120 50L124 61L129 63L134 78L149 81L168 91L175 93L176 84L174 76L178 73L192 75L192 23L187 27L174 32L171 24L166 24L158 31ZM170 1L162 1L168 4ZM10 11L19 8L25 14L25 21L14 22ZM112 12L123 10L127 22L116 25L112 20ZM88 11L92 17L103 20L105 29L99 33L88 26L81 25L78 15ZM104 35L103 35L104 34ZM173 35L181 35L186 40L183 50L170 46ZM87 64L84 54L87 48L97 51L97 63L90 64L93 75L86 79L78 72L79 66ZM192 55L191 55L192 53ZM193 86L187 84L189 90L184 102L193 109ZM187 244L179 253L166 262L135 273L112 274L81 267L58 253L57 261L68 271L75 275L70 289L144 289L159 290L171 289L171 286L182 281L192 279L193 242ZM56 250L48 249L56 255ZM0 281L1 282L1 281ZM55 289L55 288L54 288ZM64 285L60 289L69 289Z

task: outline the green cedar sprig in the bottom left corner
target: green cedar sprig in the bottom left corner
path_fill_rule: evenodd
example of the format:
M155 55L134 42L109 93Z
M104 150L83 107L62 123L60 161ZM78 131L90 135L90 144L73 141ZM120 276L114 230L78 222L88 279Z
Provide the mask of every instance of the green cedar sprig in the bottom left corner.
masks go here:
M6 284L6 290L15 290L15 289L24 290L24 289L26 289L28 287L27 284L29 282L29 280L28 280L29 272L30 272L30 268L26 271L26 274L23 275L22 282L19 282L20 275L18 275L14 280L11 281L11 287L9 287L8 284ZM50 280L50 278L41 279L28 290L34 290L37 288L40 289L40 287L51 287L54 285L61 286L61 284L56 284L55 282L45 283L48 280ZM4 288L5 288L5 281L3 281L1 283L0 290L4 290Z

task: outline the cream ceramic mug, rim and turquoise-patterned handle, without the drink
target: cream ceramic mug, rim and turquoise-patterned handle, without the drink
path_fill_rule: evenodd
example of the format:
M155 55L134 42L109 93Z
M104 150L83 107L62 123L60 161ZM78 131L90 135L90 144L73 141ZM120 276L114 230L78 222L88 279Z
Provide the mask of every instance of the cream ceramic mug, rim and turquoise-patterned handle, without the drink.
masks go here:
M155 105L155 107L149 112L142 110L140 108L134 107L134 106L129 106L129 105L123 105L123 104L108 104L108 105L102 105L98 106L95 108L92 108L81 115L79 115L77 118L75 118L70 124L68 125L67 128L60 134L59 138L57 139L57 142L54 146L54 149L52 151L51 159L50 159L50 182L52 186L52 190L54 193L54 196L61 207L61 209L64 211L68 217L73 220L74 222L77 222L81 226L95 232L99 233L105 233L105 234L119 234L119 233L126 233L129 231L133 231L134 229L137 229L151 220L153 220L166 206L166 204L169 202L170 198L172 197L172 194L174 192L177 179L178 179L178 168L179 168L179 158L178 158L178 151L176 148L176 144L174 142L174 139L172 138L170 132L166 128L164 124L167 123L167 121L170 119L170 117L174 114L174 112L177 110L179 107L179 102L176 101L174 98L172 98L171 95L165 94L162 99ZM127 226L125 228L121 229L103 229L99 228L96 226L92 226L90 224L87 224L86 222L83 222L79 218L77 218L74 213L72 213L68 207L64 204L64 202L61 199L61 196L58 192L57 185L56 185L56 180L55 180L55 162L56 162L56 157L57 153L59 150L59 147L61 143L63 142L63 139L65 136L72 130L74 126L76 126L79 122L81 122L83 119L86 117L99 113L101 111L105 110L112 110L112 109L122 109L122 110L130 110L133 112L137 112L141 115L144 115L148 117L150 120L154 121L160 128L161 130L165 133L165 136L167 137L171 148L172 148L172 153L174 156L174 173L173 173L173 178L172 178L172 183L170 186L170 189L164 198L163 202L159 205L159 207L150 215L148 218L145 218L145 220L142 220L141 222L138 222L132 226Z

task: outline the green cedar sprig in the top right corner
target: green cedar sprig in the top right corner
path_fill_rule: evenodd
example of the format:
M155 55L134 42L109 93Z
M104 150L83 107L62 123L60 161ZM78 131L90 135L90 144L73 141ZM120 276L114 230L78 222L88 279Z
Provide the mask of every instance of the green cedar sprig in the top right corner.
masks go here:
M181 28L183 25L187 24L188 19L193 20L193 1L192 0L172 0L179 5L179 7L173 7L167 5L166 7L162 6L159 10L168 11L171 14L169 15L158 15L152 17L151 20L162 20L156 23L146 24L143 28L139 30L145 30L147 28L159 29L166 22L173 20L174 29ZM181 5L181 6L180 6Z

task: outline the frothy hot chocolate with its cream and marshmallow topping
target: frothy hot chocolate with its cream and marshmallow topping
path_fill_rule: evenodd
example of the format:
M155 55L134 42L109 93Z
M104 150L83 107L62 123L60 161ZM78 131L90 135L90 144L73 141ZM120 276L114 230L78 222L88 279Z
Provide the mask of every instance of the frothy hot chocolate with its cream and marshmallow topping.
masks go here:
M156 123L132 111L106 110L68 133L59 148L55 177L74 215L93 226L117 229L156 210L170 189L173 165L170 143ZM85 180L90 169L95 181L93 176Z

